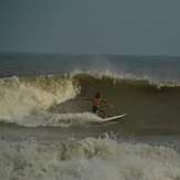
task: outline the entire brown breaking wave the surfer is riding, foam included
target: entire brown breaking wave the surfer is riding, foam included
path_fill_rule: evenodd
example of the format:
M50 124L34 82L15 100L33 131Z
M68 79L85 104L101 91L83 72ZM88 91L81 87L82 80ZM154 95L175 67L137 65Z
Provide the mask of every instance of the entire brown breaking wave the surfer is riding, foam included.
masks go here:
M92 98L97 91L114 104L113 109L106 108L106 116L127 113L139 127L160 127L162 121L166 128L179 126L179 84L80 71L64 76L1 78L0 120L30 127L96 121L92 102L84 97Z

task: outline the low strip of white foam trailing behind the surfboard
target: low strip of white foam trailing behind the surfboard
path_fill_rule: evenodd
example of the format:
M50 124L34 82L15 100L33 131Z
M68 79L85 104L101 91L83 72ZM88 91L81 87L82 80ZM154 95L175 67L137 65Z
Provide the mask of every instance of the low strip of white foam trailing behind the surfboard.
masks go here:
M98 123L100 120L100 117L92 113L51 114L47 112L41 112L39 115L13 119L13 123L24 127L70 127L93 121Z

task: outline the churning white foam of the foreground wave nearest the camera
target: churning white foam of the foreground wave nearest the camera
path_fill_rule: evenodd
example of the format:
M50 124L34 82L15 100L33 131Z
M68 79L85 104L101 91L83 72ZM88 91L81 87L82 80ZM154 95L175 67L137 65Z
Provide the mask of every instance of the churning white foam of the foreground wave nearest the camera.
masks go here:
M178 180L180 153L109 138L40 145L0 140L0 176L21 180Z

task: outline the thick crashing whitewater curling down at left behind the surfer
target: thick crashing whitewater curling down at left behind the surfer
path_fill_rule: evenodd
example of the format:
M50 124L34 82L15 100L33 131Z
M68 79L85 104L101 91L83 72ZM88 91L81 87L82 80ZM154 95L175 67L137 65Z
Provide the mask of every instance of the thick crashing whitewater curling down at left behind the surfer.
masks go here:
M9 77L0 80L0 118L23 118L53 104L74 98L80 92L71 77Z

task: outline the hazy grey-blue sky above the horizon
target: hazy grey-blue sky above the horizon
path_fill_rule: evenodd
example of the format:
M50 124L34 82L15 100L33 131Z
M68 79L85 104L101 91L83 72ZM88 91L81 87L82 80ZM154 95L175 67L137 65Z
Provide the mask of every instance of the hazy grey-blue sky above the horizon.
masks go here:
M180 55L180 0L0 0L0 52Z

